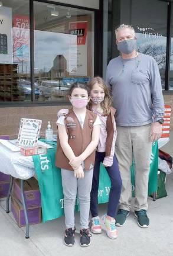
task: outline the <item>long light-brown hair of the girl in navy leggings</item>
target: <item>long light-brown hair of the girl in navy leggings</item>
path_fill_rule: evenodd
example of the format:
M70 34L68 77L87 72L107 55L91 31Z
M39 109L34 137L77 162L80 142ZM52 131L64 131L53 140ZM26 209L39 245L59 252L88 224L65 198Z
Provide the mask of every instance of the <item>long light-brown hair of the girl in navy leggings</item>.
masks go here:
M110 113L110 107L112 104L111 97L108 91L108 88L106 86L106 82L100 78L100 76L96 76L88 82L88 87L90 88L90 91L93 89L94 84L99 84L100 87L104 90L105 92L105 98L104 100L100 103L102 109L103 109L103 116L107 116ZM89 110L92 110L92 102L91 100L89 101L87 108Z

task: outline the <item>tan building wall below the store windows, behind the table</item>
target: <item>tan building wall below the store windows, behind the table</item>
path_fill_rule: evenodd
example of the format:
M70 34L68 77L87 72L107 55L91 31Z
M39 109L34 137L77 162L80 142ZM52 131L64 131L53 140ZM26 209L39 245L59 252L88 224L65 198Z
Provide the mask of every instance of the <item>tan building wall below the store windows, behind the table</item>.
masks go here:
M165 104L171 105L171 130L173 130L173 95L164 95ZM41 119L41 133L45 133L47 122L53 124L54 133L57 132L57 111L69 106L41 106L41 107L6 107L0 108L0 135L10 135L14 139L18 134L19 120L21 117Z

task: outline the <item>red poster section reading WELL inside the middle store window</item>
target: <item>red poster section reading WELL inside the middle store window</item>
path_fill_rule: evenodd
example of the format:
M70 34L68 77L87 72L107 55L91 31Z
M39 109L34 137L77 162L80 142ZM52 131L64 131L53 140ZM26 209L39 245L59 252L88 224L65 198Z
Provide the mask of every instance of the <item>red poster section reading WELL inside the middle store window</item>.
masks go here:
M87 25L87 21L76 21L69 23L69 34L77 36L77 45L86 43Z

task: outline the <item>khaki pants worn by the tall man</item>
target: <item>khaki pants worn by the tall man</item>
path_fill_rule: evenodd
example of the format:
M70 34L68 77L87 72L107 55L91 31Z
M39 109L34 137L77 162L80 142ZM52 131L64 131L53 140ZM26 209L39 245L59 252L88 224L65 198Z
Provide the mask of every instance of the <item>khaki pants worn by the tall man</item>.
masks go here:
M151 124L136 127L117 126L115 152L122 178L120 209L130 210L132 185L130 166L135 160L135 210L147 210L148 175L151 159Z

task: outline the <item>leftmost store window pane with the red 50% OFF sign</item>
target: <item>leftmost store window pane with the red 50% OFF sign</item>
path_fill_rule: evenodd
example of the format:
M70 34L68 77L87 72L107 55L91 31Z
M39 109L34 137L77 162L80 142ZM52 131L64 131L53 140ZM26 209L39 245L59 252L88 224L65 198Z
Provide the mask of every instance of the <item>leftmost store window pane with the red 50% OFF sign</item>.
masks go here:
M0 7L0 101L30 101L30 9L28 0Z

